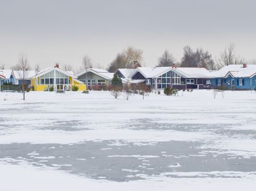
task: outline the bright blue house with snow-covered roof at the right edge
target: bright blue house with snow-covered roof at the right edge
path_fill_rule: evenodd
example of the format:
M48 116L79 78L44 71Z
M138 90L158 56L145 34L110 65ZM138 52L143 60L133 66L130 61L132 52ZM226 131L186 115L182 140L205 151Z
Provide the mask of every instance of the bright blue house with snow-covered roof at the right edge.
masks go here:
M228 90L254 90L256 87L256 65L229 65L219 71L211 72L212 87L226 86Z

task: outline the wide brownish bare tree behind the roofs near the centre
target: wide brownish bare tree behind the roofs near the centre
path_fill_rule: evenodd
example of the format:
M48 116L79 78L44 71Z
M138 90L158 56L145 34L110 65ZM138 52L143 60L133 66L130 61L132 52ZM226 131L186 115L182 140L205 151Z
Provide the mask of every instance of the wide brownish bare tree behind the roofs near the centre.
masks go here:
M118 68L137 68L141 66L143 60L143 51L128 47L121 53L116 55L116 58L109 64L108 71L115 72Z

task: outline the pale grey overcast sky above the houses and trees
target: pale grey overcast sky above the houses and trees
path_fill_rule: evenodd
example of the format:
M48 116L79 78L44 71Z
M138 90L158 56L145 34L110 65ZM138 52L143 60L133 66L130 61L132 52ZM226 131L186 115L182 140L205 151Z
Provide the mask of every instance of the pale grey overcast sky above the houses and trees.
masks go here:
M128 46L143 50L155 66L168 49L180 61L183 47L219 56L230 42L256 59L256 1L241 0L0 0L0 64L81 65L87 54L104 67Z

